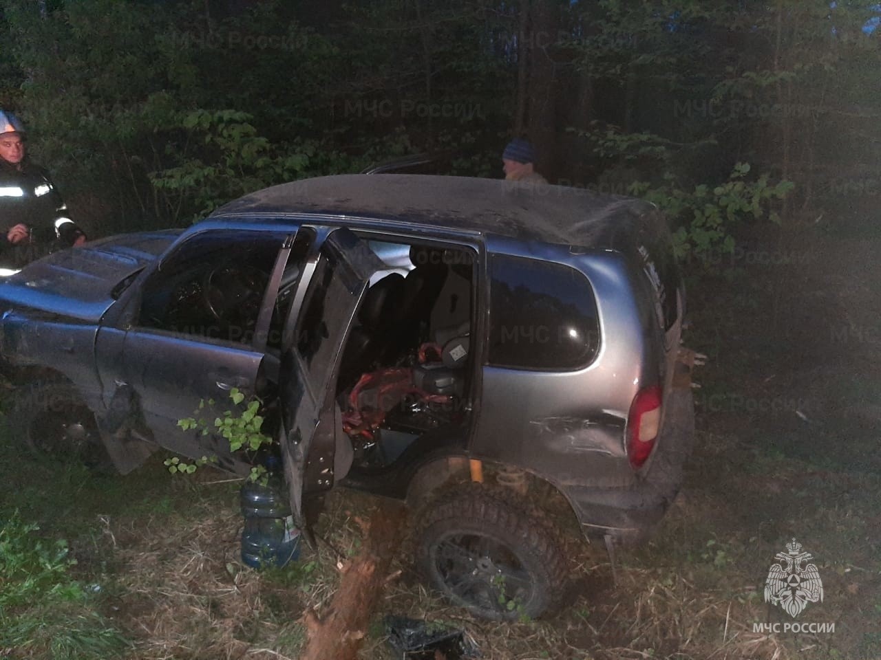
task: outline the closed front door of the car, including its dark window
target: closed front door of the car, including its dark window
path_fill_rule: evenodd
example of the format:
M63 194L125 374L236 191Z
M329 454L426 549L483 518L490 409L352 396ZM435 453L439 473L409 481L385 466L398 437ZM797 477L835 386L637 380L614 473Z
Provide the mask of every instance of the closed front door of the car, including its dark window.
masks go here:
M144 280L130 314L101 329L107 407L115 398L136 400L161 446L190 458L216 456L219 466L248 473L225 439L183 431L178 421L193 416L200 400L215 401L200 415L209 420L232 409L233 388L274 393L278 353L267 351L267 340L293 244L290 231L211 230L169 254Z

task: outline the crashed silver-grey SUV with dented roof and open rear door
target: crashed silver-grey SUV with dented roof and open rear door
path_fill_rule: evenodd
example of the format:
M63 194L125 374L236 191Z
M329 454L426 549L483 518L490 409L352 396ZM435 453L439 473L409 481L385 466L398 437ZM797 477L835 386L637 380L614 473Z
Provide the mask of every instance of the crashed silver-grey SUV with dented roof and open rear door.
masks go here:
M0 344L19 435L100 444L122 473L161 447L247 474L254 456L178 421L233 388L260 397L301 524L337 486L404 499L434 587L515 619L565 592L547 502L614 546L676 496L683 310L646 202L345 175L52 254L0 283Z

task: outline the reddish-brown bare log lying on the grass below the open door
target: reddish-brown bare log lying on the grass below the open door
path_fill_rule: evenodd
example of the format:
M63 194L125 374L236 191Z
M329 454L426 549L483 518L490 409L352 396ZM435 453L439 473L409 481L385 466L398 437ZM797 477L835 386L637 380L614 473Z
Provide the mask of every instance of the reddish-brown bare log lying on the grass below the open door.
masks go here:
M326 612L306 613L308 641L300 660L355 660L367 623L385 587L389 565L403 538L403 505L381 501L365 525L361 552L343 568Z

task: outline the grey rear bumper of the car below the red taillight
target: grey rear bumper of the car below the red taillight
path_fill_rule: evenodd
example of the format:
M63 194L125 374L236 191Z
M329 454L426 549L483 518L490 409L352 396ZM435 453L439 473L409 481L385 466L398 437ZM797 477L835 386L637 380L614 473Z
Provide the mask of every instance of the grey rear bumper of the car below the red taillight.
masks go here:
M562 488L585 535L611 536L623 545L637 543L670 508L682 487L683 468L694 445L691 387L674 388L665 407L663 435L644 477L621 488Z

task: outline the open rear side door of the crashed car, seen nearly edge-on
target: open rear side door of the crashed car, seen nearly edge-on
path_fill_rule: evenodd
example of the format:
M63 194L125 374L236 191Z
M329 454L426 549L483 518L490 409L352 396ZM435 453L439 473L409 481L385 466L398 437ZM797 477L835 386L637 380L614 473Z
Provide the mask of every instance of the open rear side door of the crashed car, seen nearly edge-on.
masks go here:
M371 275L384 268L352 231L330 233L308 261L282 341L279 442L291 508L301 526L304 495L336 479L337 441L344 440L336 402L339 362Z

